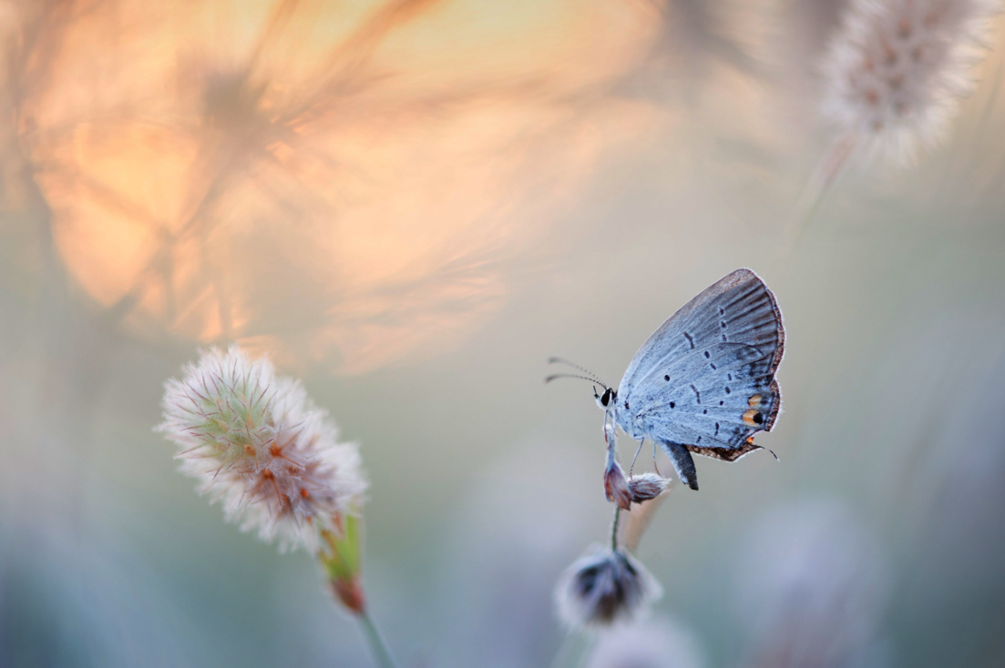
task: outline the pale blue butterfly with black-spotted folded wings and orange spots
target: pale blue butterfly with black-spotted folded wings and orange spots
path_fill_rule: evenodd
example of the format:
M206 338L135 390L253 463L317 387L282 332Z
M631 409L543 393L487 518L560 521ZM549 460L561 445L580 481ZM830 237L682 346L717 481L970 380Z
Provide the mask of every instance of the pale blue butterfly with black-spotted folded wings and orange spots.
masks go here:
M608 444L605 488L627 508L627 481L615 459L617 426L666 453L677 477L697 489L691 454L736 461L761 446L754 435L771 431L782 407L775 373L785 350L782 311L775 295L750 269L737 269L706 288L656 329L635 354L617 390L566 360L604 388L594 397L604 411ZM638 456L638 450L635 452ZM634 460L633 460L634 461Z

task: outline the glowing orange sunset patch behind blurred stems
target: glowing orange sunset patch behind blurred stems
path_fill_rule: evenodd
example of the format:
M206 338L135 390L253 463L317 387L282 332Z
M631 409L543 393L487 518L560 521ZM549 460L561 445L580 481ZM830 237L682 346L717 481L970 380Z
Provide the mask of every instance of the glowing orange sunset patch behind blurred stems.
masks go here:
M435 354L657 123L609 92L645 3L182 5L42 10L20 100L59 256L145 339L343 373Z

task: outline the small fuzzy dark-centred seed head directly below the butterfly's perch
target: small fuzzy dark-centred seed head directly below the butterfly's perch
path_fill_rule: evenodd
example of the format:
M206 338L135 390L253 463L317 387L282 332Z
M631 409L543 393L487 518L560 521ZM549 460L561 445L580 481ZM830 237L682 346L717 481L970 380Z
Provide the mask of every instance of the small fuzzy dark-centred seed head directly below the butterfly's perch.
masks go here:
M595 547L573 563L555 589L559 618L570 628L632 620L663 590L631 554Z

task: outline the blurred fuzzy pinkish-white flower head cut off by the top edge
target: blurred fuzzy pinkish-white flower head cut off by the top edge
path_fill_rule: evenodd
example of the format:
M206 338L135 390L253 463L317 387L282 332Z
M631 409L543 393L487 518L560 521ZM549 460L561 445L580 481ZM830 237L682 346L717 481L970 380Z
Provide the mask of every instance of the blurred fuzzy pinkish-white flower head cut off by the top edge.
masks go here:
M973 82L994 0L852 0L823 63L845 141L900 160L945 133Z

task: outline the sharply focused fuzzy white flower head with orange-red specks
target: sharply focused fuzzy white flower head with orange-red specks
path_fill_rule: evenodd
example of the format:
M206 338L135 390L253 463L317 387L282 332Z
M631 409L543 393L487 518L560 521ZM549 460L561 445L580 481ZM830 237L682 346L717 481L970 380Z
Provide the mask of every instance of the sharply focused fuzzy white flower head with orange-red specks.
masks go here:
M179 448L181 470L223 503L227 519L257 529L280 549L319 547L323 530L359 510L367 483L358 446L299 382L236 346L211 349L164 392L157 430Z

